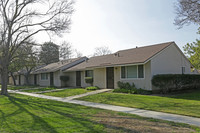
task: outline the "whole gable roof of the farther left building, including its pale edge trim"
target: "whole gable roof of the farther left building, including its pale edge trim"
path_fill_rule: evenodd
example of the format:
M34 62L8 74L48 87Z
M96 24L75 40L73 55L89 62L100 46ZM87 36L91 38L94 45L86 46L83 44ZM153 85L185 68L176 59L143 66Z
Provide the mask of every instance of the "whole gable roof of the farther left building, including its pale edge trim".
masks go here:
M55 72L58 70L66 70L70 67L73 67L76 64L79 64L86 60L86 57L62 60L56 63L48 64L44 67L34 70L31 74L38 74L38 73L47 73L47 72Z

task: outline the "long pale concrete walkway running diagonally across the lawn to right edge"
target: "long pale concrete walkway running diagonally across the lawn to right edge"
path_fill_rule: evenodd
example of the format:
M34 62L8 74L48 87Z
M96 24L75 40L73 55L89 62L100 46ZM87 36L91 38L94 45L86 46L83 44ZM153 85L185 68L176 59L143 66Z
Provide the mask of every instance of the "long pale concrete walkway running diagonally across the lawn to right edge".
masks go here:
M162 112L129 108L129 107L121 107L121 106L101 104L101 103L86 102L86 101L80 101L80 100L72 100L73 98L70 99L70 98L52 97L52 96L32 94L32 93L26 93L26 92L18 92L18 91L12 91L12 90L9 90L9 92L38 97L38 98L50 99L50 100L55 100L55 101L60 101L60 102L73 103L73 104L83 105L83 106L87 106L87 107L100 108L100 109L124 112L124 113L129 113L129 114L135 114L135 115L139 115L142 117L149 117L149 118L155 118L155 119L161 119L161 120L167 120L167 121L173 121L173 122L179 122L179 123L200 126L200 118L195 118L195 117L162 113ZM80 97L80 95L79 95L79 97Z

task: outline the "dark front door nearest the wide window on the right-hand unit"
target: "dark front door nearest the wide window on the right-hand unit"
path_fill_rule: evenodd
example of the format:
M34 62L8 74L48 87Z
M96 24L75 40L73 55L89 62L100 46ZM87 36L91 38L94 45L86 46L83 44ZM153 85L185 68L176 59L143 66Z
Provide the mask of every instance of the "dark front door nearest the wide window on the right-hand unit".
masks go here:
M107 88L114 89L114 67L106 68Z

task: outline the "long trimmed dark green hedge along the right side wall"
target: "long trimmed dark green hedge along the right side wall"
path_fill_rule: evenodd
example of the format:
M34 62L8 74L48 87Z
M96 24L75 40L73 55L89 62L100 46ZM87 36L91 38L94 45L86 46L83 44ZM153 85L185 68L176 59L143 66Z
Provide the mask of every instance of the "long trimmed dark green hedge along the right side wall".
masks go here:
M152 78L152 85L162 93L183 89L200 88L200 75L194 74L160 74Z

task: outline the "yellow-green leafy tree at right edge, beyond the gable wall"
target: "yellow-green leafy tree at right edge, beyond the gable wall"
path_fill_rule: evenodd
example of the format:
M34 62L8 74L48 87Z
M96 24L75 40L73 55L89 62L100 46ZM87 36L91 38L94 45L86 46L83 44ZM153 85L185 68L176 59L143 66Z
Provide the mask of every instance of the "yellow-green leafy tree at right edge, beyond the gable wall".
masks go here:
M188 43L183 48L194 67L200 69L200 40Z

